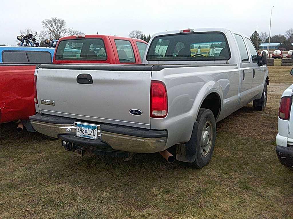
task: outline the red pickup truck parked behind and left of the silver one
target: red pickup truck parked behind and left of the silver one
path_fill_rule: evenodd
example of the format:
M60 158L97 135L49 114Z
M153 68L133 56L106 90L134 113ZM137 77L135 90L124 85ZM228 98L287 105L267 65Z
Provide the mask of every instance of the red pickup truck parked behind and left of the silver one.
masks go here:
M53 63L140 64L147 42L107 35L78 35L59 39ZM2 52L3 54L3 52ZM18 54L19 55L19 54ZM36 64L21 58L0 63L0 123L28 120L35 114L34 72ZM31 129L30 123L24 122Z

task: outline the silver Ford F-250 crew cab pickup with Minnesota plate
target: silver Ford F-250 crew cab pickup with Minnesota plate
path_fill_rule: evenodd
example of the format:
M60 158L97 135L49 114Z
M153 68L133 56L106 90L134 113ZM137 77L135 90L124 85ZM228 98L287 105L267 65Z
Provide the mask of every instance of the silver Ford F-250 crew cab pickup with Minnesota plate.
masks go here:
M217 121L251 101L265 109L267 55L241 33L154 34L140 51L141 65L127 65L133 48L119 49L125 65L38 65L35 130L79 155L160 152L172 162L175 153L167 149L174 146L177 160L202 168L214 150Z

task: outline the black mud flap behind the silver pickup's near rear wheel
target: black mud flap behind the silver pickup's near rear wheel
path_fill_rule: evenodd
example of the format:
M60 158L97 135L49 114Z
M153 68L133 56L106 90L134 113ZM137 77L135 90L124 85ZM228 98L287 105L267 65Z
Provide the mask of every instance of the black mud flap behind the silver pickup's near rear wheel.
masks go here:
M191 138L185 144L176 145L176 160L193 163L196 156L197 121L193 125Z

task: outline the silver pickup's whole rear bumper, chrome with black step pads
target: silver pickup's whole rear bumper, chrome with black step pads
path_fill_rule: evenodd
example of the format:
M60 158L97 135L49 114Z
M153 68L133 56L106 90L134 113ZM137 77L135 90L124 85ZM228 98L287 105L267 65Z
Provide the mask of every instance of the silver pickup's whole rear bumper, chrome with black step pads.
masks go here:
M34 129L44 135L62 139L76 145L113 150L154 153L165 150L168 133L166 130L151 130L111 124L97 124L101 135L97 140L76 137L76 123L84 122L58 116L36 114L30 117ZM94 124L86 121L87 123Z

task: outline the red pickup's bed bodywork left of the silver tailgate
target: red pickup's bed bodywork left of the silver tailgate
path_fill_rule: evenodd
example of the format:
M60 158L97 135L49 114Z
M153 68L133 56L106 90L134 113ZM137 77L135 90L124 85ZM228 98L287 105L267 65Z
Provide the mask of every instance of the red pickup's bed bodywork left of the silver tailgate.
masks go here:
M0 123L35 114L34 65L0 65Z

